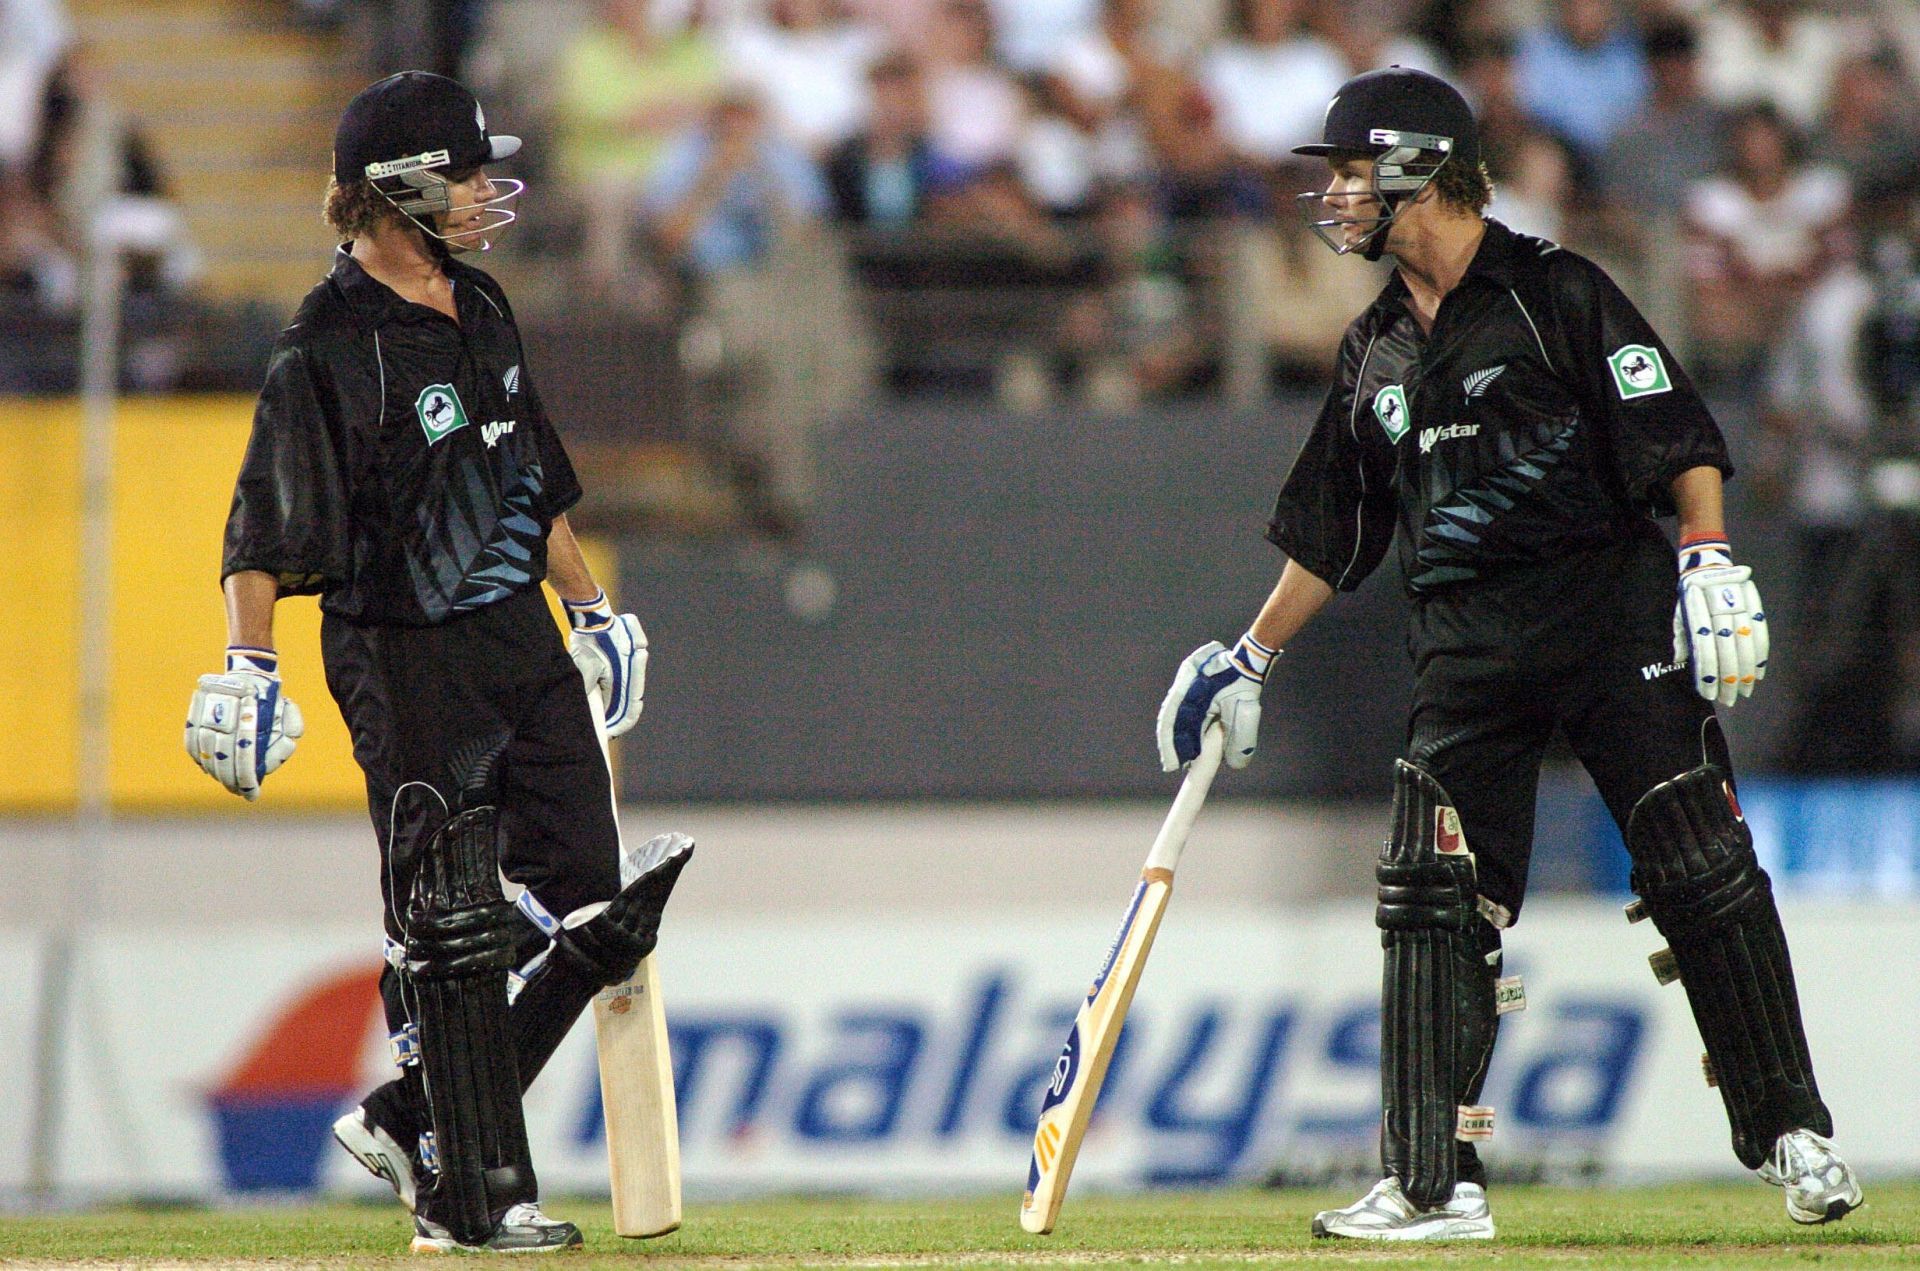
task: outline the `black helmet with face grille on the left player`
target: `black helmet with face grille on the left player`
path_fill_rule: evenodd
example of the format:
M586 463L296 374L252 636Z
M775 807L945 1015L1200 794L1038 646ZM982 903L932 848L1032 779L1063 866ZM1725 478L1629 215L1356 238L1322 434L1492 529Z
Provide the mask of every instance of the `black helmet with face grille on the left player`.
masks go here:
M334 180L369 180L428 238L465 248L467 238L478 236L486 252L492 246L486 236L518 217L505 204L518 198L526 182L497 177L493 184L505 186L501 194L455 207L447 179L518 150L518 136L488 132L486 111L465 84L428 71L401 71L348 102L334 131ZM478 225L453 234L434 228L434 213L474 207L488 211Z

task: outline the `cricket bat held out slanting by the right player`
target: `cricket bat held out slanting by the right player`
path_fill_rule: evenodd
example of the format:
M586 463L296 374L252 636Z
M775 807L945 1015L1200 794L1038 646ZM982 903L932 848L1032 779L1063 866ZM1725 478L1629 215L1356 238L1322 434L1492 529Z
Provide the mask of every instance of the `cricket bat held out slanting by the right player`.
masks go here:
M1119 935L1108 947L1100 973L1092 977L1087 1000L1081 1002L1068 1031L1068 1044L1054 1064L1052 1081L1041 1100L1041 1123L1033 1131L1027 1194L1020 1200L1020 1225L1033 1235L1044 1236L1054 1229L1060 1206L1068 1198L1068 1179L1087 1137L1092 1106L1100 1098L1106 1066L1114 1058L1114 1046L1119 1044L1119 1029L1127 1023L1127 1008L1140 983L1140 970L1146 968L1146 954L1154 948L1160 916L1167 910L1173 866L1181 860L1187 833L1200 816L1213 774L1219 772L1223 745L1221 728L1206 730L1200 739L1200 758L1187 770L1154 849L1146 852L1146 868L1140 870L1127 916L1119 920Z

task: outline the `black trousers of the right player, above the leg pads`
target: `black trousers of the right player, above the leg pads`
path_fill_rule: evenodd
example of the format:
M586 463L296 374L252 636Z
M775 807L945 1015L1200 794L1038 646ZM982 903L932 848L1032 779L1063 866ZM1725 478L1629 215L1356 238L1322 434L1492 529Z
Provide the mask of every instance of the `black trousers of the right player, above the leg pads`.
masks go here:
M1417 601L1407 760L1440 781L1480 895L1517 918L1540 758L1555 728L1620 833L1649 789L1732 762L1713 705L1674 666L1676 564L1651 526L1628 541Z

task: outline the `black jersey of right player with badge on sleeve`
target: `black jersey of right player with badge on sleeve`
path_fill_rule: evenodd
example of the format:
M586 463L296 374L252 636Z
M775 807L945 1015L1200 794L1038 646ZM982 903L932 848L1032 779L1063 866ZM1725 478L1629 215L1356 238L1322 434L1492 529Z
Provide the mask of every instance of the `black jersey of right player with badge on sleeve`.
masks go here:
M1348 326L1267 538L1350 591L1398 524L1419 597L1657 534L1695 467L1720 430L1613 278L1488 221L1430 334L1398 273Z

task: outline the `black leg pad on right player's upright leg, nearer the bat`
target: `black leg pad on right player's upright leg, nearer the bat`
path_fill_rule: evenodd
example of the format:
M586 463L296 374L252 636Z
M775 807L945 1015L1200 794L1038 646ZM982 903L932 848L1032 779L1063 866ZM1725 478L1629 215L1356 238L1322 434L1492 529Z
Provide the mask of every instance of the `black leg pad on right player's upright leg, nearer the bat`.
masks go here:
M1459 1181L1459 1108L1494 1048L1500 933L1476 908L1473 856L1440 783L1400 762L1394 831L1375 870L1380 977L1380 1163L1417 1210ZM1480 1173L1478 1156L1467 1165Z

